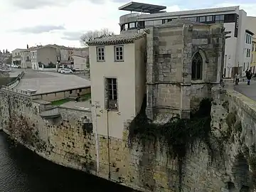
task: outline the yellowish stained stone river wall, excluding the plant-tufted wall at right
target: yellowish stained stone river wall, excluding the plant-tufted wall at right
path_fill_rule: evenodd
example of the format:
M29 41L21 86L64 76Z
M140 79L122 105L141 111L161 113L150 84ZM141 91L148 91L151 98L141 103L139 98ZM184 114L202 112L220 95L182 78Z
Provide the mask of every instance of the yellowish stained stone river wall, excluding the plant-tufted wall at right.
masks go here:
M90 124L85 124L85 116L91 120L90 112L59 107L60 117L46 119L41 112L47 104L7 90L2 90L2 94L4 132L56 164L141 191L227 188L225 171L218 169L219 161L211 161L204 144L197 144L181 166L177 159L167 155L163 143L143 145L143 140L135 139L129 146L128 129L124 129L122 139L95 134Z

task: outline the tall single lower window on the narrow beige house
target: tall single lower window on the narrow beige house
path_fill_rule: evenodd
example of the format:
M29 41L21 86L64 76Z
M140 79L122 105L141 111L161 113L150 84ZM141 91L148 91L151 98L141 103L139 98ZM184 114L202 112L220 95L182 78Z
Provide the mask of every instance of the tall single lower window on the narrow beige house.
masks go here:
M117 110L117 79L116 78L106 78L106 91L107 91L107 109Z

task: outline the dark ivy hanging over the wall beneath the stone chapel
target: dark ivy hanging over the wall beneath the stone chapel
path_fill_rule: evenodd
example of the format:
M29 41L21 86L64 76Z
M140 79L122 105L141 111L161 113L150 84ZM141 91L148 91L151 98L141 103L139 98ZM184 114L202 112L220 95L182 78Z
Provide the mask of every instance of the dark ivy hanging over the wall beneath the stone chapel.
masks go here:
M166 124L155 124L146 117L146 99L142 109L129 124L129 146L135 139L145 146L146 143L161 141L167 146L168 155L178 159L179 191L181 191L182 166L188 151L193 151L196 142L204 142L213 154L210 144L210 110L211 101L208 98L201 100L198 110L191 113L191 119L172 117Z

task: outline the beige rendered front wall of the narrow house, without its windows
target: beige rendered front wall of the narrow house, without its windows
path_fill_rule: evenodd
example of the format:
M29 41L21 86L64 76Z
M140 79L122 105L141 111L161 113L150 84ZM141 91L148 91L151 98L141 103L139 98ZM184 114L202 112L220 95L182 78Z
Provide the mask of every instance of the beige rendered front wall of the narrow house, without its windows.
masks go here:
M111 137L121 139L124 122L136 115L134 43L124 45L124 62L114 62L114 46L105 46L105 62L97 62L96 46L91 46L89 53L92 103L100 105L96 110L97 124L92 113L93 129L102 135L109 130ZM117 78L118 111L105 109L105 78Z

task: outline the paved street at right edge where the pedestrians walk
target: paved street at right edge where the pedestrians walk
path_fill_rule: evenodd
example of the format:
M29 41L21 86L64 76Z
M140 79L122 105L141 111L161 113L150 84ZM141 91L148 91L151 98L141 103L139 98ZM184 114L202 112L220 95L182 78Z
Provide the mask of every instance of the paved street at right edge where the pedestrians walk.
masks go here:
M242 93L243 95L250 97L256 101L256 81L252 80L250 85L247 82L240 82L239 85L235 86L235 90Z

